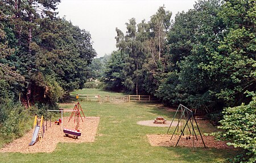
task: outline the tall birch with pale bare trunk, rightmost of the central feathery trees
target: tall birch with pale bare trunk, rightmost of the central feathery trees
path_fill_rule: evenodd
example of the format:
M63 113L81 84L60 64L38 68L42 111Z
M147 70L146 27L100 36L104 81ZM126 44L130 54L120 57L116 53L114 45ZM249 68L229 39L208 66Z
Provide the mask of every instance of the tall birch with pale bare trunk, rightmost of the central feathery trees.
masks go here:
M143 63L143 89L155 94L164 76L166 76L167 66L167 33L171 25L172 12L166 11L165 7L159 7L156 14L151 16L150 22L144 29L146 39L144 42L144 53L146 53L147 61Z

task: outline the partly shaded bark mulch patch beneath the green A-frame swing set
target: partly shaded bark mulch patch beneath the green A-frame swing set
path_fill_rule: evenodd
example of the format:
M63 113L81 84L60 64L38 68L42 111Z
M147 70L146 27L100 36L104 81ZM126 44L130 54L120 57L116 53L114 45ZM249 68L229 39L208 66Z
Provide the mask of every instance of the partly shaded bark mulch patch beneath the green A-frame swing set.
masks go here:
M175 147L177 140L179 139L179 135L174 135L171 139L172 135L147 135L150 145L152 146L162 146L162 147ZM200 135L197 135L198 141L194 136L194 147L204 147L203 141L201 140ZM225 141L214 140L213 136L203 136L205 146L207 148L217 148L217 149L233 149L234 147L226 145ZM186 140L186 136L181 136L179 143L177 144L179 147L193 147L192 138Z

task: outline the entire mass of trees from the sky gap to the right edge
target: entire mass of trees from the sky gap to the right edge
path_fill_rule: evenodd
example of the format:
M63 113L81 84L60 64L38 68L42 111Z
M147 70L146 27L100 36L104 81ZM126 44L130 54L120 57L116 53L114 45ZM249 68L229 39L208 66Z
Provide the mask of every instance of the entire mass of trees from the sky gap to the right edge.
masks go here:
M248 103L243 92L256 84L255 4L198 1L172 23L164 6L148 23L130 19L126 35L116 29L120 52L113 56L122 62L110 59L107 88L150 93L201 111Z

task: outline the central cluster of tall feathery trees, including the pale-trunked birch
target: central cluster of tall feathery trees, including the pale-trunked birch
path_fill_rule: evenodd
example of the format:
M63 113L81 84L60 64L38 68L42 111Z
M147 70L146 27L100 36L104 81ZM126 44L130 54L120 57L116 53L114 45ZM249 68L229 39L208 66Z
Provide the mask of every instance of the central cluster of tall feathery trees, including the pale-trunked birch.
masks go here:
M136 23L135 18L126 23L126 35L116 28L118 53L113 54L110 61L118 61L118 68L109 64L105 81L106 88L112 90L124 89L126 92L155 93L159 80L166 70L166 35L171 25L170 11L159 7L150 22ZM119 55L119 56L118 56ZM116 62L115 62L116 63ZM112 76L111 76L112 75Z

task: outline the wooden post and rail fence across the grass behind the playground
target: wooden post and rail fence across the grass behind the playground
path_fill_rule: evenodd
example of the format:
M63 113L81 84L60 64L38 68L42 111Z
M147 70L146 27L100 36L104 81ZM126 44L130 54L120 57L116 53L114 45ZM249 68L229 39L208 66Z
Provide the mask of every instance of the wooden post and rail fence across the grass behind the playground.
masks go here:
M155 102L155 98L150 95L125 95L125 96L109 96L109 95L78 95L83 101L95 102Z

